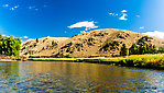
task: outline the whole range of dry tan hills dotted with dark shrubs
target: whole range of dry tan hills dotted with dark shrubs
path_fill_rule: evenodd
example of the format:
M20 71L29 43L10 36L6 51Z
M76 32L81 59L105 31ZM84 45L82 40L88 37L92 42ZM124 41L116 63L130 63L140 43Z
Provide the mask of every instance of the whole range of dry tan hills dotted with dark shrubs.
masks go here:
M141 42L164 46L163 38L152 37L125 30L96 30L58 40L55 43L56 45L51 45L52 39L47 39L46 43L40 44L35 44L34 42L24 43L22 45L21 54L26 55L26 53L34 50L33 55L50 55L54 57L64 57L66 55L70 55L72 57L102 57L119 56L122 44L125 44L128 48L131 47L133 43L139 44ZM33 47L23 48L25 44L29 47ZM24 47L26 47L26 45ZM37 48L41 46L43 47L43 45L45 46L44 50Z

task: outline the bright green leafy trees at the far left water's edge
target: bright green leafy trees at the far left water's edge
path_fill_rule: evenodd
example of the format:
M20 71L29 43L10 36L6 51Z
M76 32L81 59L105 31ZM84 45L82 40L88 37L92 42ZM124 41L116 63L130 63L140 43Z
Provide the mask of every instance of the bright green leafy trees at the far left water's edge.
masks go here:
M20 49L21 49L20 38L15 38L12 35L3 37L0 34L0 55L19 57Z

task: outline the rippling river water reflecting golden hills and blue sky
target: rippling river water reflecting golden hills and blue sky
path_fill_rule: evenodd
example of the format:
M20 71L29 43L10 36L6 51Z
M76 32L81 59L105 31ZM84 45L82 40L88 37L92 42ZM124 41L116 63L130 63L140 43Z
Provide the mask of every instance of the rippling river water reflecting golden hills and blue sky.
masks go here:
M164 72L85 62L0 62L0 92L164 92Z

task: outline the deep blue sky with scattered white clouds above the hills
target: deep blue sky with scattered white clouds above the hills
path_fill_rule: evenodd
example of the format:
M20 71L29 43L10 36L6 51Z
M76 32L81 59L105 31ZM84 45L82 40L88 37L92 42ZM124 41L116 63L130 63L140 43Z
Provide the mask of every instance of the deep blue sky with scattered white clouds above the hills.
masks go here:
M164 0L1 0L0 33L22 40L99 28L164 38Z

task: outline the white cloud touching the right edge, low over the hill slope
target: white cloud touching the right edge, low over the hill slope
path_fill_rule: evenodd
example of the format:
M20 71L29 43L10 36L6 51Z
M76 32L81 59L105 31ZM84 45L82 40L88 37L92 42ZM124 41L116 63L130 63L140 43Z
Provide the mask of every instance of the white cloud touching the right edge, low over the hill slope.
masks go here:
M153 31L153 32L145 32L142 34L164 38L164 32Z

